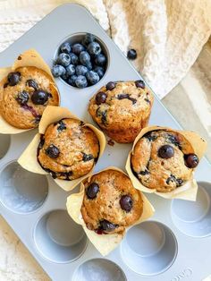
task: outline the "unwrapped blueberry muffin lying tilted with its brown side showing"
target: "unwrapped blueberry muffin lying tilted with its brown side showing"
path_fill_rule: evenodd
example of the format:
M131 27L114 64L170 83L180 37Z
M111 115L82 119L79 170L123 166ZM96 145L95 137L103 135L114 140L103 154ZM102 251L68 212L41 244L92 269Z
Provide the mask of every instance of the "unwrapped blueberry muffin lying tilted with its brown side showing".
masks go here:
M148 125L153 100L144 81L109 82L90 99L89 114L114 141L132 142Z

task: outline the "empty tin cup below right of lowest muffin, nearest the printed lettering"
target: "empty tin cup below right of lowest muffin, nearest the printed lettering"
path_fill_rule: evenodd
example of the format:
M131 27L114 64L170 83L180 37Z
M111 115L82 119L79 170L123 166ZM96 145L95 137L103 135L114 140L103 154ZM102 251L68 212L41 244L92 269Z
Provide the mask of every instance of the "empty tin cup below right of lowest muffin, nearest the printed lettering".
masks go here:
M121 245L122 260L138 274L154 276L170 268L177 255L173 232L156 221L131 227Z

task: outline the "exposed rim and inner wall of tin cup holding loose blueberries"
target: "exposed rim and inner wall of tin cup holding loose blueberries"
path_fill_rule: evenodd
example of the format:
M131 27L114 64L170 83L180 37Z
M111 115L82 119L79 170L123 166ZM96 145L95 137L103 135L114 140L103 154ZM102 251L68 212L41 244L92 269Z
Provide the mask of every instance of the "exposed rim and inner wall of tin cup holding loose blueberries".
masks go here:
M55 50L55 55L54 55L54 62L56 62L56 58L57 56L59 55L59 50L60 50L60 47L62 46L62 44L64 42L69 42L71 45L75 44L75 43L80 43L82 38L86 35L87 33L86 32L80 32L80 33L74 33L66 38L63 39L62 42L59 43L58 47L56 48ZM101 81L102 79L104 79L105 75L106 75L106 72L109 68L109 64L110 64L110 55L109 55L109 51L108 51L108 48L105 46L105 43L100 39L98 38L96 35L95 35L95 38L96 38L96 42L99 43L101 49L102 49L102 52L103 54L105 55L106 59L107 59L107 62L105 64L105 73L104 73L104 76L102 78L100 78L99 81ZM63 81L66 85L72 87L71 85L69 85L66 81L63 80L63 78L60 77L60 80ZM99 81L97 83L99 83ZM90 85L88 87L92 87L92 86L96 86L97 84L95 85ZM88 88L86 87L86 88ZM77 87L73 87L74 89L79 89ZM86 89L85 88L85 89Z

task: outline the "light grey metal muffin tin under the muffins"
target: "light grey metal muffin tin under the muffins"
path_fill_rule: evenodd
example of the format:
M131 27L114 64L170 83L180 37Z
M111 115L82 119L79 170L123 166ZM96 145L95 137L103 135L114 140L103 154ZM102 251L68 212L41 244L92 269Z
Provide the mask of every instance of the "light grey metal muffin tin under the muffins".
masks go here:
M58 7L1 53L0 62L1 67L12 65L17 55L32 47L52 65L59 45L84 32L95 34L104 46L105 76L86 89L72 88L61 79L56 83L61 106L93 123L87 106L97 89L108 81L141 77L85 8L77 4ZM157 98L150 124L180 128ZM71 192L63 192L50 176L32 174L17 164L36 132L0 135L0 213L52 280L198 281L211 273L211 168L206 158L196 173L196 202L147 194L155 216L133 226L121 245L104 258L67 215L65 202ZM96 171L106 166L124 168L130 149L131 145L107 145Z

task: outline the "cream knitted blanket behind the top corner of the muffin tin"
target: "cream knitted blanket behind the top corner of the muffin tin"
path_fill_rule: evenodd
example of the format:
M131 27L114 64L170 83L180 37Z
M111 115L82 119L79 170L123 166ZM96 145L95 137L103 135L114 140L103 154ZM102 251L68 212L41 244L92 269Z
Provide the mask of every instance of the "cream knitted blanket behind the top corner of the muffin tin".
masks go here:
M86 6L159 98L189 71L211 34L210 0L0 0L0 51L59 4Z

